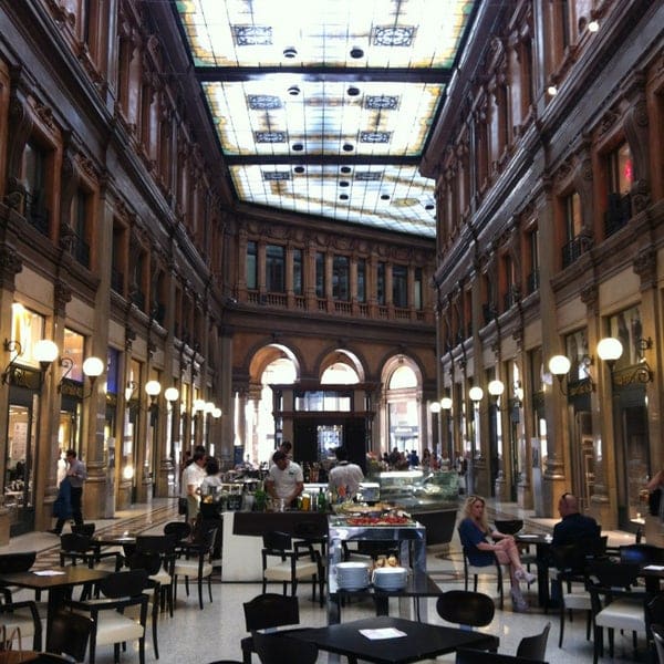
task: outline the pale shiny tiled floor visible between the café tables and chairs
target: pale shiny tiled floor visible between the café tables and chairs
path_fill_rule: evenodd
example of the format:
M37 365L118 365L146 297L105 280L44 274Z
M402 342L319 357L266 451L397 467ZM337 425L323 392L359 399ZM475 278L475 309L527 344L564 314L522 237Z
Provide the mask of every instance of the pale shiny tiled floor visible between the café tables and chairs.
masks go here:
M181 517L179 517L181 518ZM155 501L152 511L136 507L123 512L114 520L97 521L100 532L113 530L131 530L135 532L162 532L163 523L178 519L174 500ZM528 529L547 530L548 523L528 523ZM27 550L34 548L40 551L39 567L45 568L56 563L58 544L54 536L48 533L31 533L13 538L10 547L0 548L0 552L13 550ZM454 588L463 588L463 560L458 540L452 542L448 552L432 549L427 557L427 569L440 585L442 591ZM246 635L241 604L256 594L260 593L260 584L257 583L221 583L218 574L215 577L212 588L214 602L210 604L205 596L205 608L198 609L196 591L187 598L184 588L178 589L178 600L173 619L162 614L159 619L159 651L160 664L206 664L216 660L235 658L241 660L240 639ZM280 589L273 587L279 592ZM495 587L485 584L480 590L496 595ZM506 587L507 590L507 587ZM302 587L300 595L300 622L303 625L319 626L326 623L326 610L320 609L318 602L312 602L309 587ZM504 611L496 611L494 622L487 632L500 637L500 652L515 653L518 642L525 635L541 632L547 621L551 621L551 632L547 650L547 661L551 664L571 664L575 662L592 662L592 643L585 641L585 622L582 616L577 616L572 623L567 623L563 647L558 647L558 614L544 615L543 611L535 606L537 587L533 585L528 592L533 608L528 613L513 613L508 593L506 593L506 605ZM443 622L436 614L435 600L426 602L426 610L430 622ZM396 602L391 604L391 613L396 614L398 606ZM364 618L373 613L373 604L370 602L353 601L343 609L343 620ZM631 634L616 634L615 658L608 656L601 662L623 664L625 662L647 662L644 639L640 636L640 650L636 655L632 651ZM137 645L127 644L127 651L121 655L121 664L137 663ZM440 662L454 662L454 655L439 658ZM111 647L101 647L97 651L96 662L98 664L111 664L113 652ZM146 641L146 662L155 662L152 639ZM258 662L257 658L253 660ZM319 662L328 662L328 655L321 653ZM345 661L342 660L343 664ZM293 664L298 664L293 662Z

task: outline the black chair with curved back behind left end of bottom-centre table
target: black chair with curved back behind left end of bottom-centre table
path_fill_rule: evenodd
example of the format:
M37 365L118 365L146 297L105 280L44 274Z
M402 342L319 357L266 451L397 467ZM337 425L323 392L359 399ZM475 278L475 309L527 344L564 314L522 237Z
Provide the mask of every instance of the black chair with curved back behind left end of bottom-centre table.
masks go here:
M249 602L245 602L242 606L247 632L251 633L251 636L246 636L240 642L243 664L251 664L251 653L256 652L253 646L253 634L256 632L300 624L300 604L297 595L267 592L256 595ZM289 632L301 632L307 629L281 630L279 633L288 634Z

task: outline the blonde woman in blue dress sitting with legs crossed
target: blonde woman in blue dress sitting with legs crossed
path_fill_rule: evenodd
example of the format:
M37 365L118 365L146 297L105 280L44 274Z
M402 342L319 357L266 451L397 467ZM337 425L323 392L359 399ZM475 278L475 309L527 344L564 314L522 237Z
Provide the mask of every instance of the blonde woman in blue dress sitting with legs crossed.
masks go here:
M528 602L521 594L519 581L530 584L537 577L523 569L515 538L489 527L485 507L485 499L479 496L466 499L465 518L459 523L461 546L466 549L470 564L487 567L497 559L500 564L508 566L512 605L517 611L527 611Z

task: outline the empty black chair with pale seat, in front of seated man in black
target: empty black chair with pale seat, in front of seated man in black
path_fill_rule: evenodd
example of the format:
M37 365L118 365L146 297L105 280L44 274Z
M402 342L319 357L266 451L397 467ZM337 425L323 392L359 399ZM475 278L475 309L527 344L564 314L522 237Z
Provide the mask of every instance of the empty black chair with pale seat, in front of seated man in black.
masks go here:
M588 568L588 590L592 605L594 643L593 664L603 652L603 631L609 630L609 649L613 656L613 631L630 630L636 651L636 633L646 624L650 595L636 589L640 566L596 560Z

